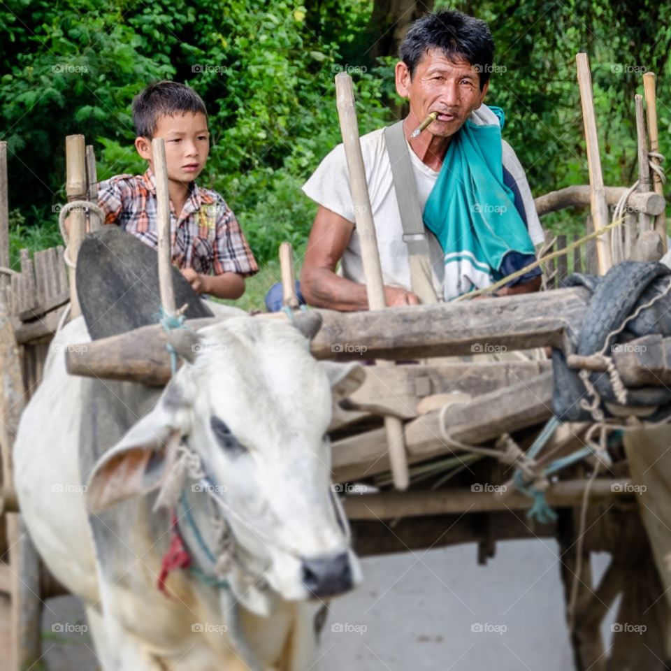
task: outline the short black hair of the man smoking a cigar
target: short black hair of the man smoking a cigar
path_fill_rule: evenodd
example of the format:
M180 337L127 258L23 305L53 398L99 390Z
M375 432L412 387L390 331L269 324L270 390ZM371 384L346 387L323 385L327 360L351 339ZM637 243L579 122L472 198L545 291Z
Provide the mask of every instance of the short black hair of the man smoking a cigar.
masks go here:
M480 90L489 81L494 41L486 22L456 10L421 17L407 31L401 45L401 60L410 78L431 49L440 49L449 59L466 60L480 75Z

